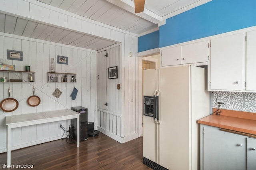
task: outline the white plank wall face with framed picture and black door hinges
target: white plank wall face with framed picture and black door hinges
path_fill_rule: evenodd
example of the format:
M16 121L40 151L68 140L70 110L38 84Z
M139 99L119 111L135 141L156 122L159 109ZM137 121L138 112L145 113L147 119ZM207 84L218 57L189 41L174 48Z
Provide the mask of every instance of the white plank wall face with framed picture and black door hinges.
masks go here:
M115 66L118 68L118 78L108 79L108 68ZM120 75L120 46L97 53L98 127L117 136L121 131L121 90L117 89Z

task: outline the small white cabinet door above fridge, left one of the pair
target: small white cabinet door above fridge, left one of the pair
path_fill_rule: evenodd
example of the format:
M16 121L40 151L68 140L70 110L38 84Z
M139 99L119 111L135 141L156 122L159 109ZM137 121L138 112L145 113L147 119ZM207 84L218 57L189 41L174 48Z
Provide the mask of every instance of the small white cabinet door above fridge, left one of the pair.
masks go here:
M161 65L179 65L181 64L181 46L161 49Z

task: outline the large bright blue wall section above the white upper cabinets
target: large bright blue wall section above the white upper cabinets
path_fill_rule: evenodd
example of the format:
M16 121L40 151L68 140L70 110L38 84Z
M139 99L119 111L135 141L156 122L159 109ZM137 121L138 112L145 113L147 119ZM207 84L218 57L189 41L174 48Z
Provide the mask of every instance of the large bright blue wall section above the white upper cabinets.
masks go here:
M256 0L212 0L166 20L160 47L256 25Z

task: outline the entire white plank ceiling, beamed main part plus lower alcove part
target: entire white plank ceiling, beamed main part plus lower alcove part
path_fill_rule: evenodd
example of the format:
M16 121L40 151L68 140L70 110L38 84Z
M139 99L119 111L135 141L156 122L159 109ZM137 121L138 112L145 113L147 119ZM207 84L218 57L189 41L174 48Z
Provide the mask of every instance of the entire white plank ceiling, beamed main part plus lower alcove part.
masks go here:
M37 0L44 4L96 20L141 36L158 30L165 19L211 0L146 0L144 12L134 13L132 0ZM66 28L49 26L0 13L0 32L49 42L100 50L118 42ZM50 34L49 34L50 33Z

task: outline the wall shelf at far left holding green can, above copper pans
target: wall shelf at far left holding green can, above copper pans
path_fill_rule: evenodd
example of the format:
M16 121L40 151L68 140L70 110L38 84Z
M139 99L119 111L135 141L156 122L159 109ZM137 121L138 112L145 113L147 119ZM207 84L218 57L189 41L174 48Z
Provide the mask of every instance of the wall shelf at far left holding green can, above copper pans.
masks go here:
M31 78L32 76L32 78ZM33 83L35 82L34 71L0 71L0 77L6 77L6 82L0 83Z

